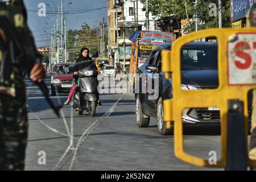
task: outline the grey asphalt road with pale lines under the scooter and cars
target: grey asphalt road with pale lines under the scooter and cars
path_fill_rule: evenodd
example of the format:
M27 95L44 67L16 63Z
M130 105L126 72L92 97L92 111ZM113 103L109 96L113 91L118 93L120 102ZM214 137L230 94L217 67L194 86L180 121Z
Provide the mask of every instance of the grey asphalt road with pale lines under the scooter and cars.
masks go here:
M50 80L47 76L48 86ZM29 80L26 86L29 105L26 170L216 169L192 166L177 159L174 136L159 135L156 119L151 118L148 128L137 127L133 94L101 94L103 106L97 107L95 117L85 112L78 115L70 106L63 106L62 117L57 118L40 90ZM51 98L55 104L63 104L67 94ZM220 159L220 126L185 127L184 146L189 154L205 159L209 159L210 151L216 151ZM46 164L40 163L44 152Z

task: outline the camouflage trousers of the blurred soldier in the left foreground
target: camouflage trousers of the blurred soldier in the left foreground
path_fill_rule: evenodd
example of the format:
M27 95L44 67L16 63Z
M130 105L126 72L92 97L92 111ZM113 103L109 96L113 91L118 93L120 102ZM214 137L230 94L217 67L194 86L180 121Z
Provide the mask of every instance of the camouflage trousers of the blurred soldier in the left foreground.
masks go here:
M0 94L0 170L24 169L27 108L19 98Z

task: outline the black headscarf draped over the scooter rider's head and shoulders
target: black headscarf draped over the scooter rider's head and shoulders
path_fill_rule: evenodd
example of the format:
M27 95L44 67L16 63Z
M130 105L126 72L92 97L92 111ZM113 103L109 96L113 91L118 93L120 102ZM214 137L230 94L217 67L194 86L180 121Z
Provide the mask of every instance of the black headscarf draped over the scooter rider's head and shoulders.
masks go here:
M82 55L82 52L84 52L85 50L88 51L88 56L87 57L84 57ZM89 57L89 49L84 47L81 49L80 51L80 55L79 57L77 58L76 62L75 62L75 71L79 71L80 69L88 69L88 70L94 70L94 69L97 69L94 61L92 60L91 57Z

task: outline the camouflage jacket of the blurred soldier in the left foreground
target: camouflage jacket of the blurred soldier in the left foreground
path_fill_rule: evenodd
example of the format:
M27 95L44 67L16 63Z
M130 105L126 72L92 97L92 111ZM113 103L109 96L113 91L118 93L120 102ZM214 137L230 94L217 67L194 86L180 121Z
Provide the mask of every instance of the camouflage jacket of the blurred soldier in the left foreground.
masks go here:
M0 0L0 16L6 16L10 23L13 24L13 27L16 28L19 40L26 49L28 56L30 56L31 60L35 60L38 52L34 44L34 38L27 26L27 13L23 1ZM8 47L9 46L7 46L7 44L0 38L0 65L2 64L3 56L5 56L5 52ZM13 97L25 94L25 85L22 74L23 71L23 61L15 60L15 64L12 64L11 67L10 79L6 81L0 77L0 90L5 90L5 92Z

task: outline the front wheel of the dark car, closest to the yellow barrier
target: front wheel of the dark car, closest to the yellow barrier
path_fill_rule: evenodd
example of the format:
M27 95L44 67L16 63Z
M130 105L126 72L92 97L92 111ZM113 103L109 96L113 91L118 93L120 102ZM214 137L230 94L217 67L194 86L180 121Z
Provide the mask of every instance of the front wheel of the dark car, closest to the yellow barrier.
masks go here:
M160 135L172 135L174 134L174 127L171 126L167 129L166 122L163 120L163 101L162 97L158 100L158 105L156 106L156 122L158 124L158 131Z

